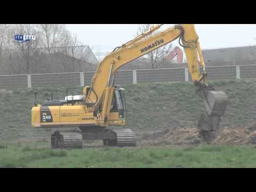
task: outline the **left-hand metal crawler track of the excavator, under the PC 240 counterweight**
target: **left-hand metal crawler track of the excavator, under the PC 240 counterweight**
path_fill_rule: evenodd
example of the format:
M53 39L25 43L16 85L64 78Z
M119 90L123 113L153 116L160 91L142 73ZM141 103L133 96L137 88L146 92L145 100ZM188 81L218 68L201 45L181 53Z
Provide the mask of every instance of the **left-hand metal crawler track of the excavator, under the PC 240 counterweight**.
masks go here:
M82 134L79 132L70 131L56 131L51 135L51 146L52 148L83 148L83 138Z

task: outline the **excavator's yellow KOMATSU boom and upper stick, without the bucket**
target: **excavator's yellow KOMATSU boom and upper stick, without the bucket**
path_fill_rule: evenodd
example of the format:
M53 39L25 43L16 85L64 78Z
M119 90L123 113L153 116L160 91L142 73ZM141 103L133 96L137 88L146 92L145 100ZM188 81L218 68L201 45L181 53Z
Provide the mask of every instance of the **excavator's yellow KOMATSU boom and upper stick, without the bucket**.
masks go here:
M138 36L132 41L117 47L113 52L108 54L100 63L91 82L91 92L88 95L88 102L94 102L94 109L102 104L103 93L106 87L112 86L116 71L126 63L142 57L143 55L173 42L175 39L182 39L183 47L188 60L188 70L193 81L201 80L199 78L198 53L201 58L201 65L204 68L202 51L199 46L198 36L195 32L194 25L185 24L177 25L166 29L158 34L151 35L161 26L155 26L145 34Z

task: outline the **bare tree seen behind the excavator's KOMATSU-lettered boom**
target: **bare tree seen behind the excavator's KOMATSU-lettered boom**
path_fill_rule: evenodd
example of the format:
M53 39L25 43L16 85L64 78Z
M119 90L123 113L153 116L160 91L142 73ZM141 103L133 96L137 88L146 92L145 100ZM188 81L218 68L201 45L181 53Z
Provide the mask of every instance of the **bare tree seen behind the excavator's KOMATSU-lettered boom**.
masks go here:
M138 27L137 35L143 34L146 31L148 31L151 27L153 27L153 24L140 24ZM156 34L157 32L153 33ZM172 44L166 44L154 51L151 51L150 53L147 53L145 55L145 64L149 64L151 69L156 69L160 67L164 67L167 65L167 63L170 63L170 61L167 60L167 55L172 50Z

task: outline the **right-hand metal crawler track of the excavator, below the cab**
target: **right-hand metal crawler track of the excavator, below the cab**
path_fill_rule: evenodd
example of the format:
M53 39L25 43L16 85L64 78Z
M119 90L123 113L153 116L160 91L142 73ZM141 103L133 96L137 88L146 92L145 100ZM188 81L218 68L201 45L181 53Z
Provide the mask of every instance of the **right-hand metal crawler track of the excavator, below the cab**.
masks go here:
M136 135L131 129L112 129L116 139L103 139L103 145L105 146L117 146L117 147L135 147Z

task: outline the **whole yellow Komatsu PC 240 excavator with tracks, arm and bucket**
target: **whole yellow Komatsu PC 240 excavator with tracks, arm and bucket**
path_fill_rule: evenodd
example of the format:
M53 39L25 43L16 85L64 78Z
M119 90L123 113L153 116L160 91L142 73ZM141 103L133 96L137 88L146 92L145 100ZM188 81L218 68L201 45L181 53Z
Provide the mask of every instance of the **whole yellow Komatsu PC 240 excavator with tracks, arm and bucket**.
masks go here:
M227 95L214 90L207 81L195 26L180 24L153 34L161 26L152 27L106 55L92 78L91 86L83 88L83 95L67 95L65 100L49 100L42 105L35 103L31 109L31 126L52 128L52 148L82 148L84 140L103 140L104 146L135 146L135 133L131 129L120 128L125 125L124 89L115 85L115 74L126 63L179 39L186 53L196 94L204 100L205 114L198 121L200 135L205 140L211 139L225 113ZM119 127L110 129L108 126ZM74 131L74 127L79 127L79 130Z

